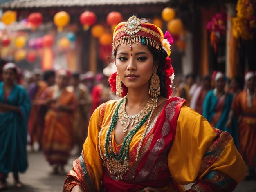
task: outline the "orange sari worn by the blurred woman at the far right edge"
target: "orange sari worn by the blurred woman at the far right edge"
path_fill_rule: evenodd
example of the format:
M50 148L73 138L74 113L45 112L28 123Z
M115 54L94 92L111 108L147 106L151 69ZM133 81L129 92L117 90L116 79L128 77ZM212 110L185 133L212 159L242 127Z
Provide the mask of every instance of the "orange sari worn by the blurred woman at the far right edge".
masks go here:
M252 98L252 106L247 107L247 90L238 94L232 104L232 109L237 116L239 150L250 167L255 167L256 158L256 97Z

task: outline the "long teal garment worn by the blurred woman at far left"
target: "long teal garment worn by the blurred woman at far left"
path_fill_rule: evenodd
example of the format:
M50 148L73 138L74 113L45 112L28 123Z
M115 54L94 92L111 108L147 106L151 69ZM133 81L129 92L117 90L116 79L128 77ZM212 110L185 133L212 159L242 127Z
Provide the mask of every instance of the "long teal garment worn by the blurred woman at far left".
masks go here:
M19 112L0 112L0 173L24 172L27 169L27 122L30 100L26 90L14 85L7 99L0 82L0 103L15 105Z

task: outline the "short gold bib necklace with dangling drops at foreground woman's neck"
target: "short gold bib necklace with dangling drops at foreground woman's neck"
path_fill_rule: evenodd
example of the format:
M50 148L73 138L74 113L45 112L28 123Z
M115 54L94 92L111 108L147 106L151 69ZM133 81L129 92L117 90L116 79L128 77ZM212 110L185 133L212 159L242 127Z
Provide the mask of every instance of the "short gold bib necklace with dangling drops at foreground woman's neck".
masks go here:
M118 109L118 116L117 116L118 121L124 127L124 130L123 130L124 135L126 134L127 128L129 127L129 125L131 125L132 127L136 127L139 124L139 122L141 122L142 119L146 116L146 114L148 114L152 110L155 104L152 97L150 97L144 109L142 109L139 113L135 115L128 115L126 114L126 111L125 111L126 100L127 100L127 95L124 97L124 102L121 103Z

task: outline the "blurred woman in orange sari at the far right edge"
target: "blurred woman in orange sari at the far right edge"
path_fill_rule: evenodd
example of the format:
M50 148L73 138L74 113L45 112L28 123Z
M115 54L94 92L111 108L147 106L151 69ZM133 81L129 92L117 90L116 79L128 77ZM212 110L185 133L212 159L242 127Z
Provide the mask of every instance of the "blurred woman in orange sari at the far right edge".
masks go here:
M254 72L245 75L246 89L234 100L232 112L238 122L239 151L249 166L246 179L256 179L256 77ZM232 117L232 114L231 114Z

